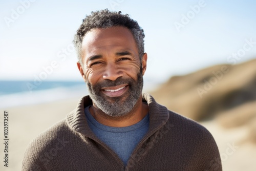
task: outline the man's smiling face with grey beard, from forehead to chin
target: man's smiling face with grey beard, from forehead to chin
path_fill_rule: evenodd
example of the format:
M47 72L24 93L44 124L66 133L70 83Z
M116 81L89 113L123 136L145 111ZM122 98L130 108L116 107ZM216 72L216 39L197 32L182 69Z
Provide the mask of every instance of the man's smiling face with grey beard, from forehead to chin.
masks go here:
M96 108L113 117L129 113L141 95L147 58L140 60L132 33L93 29L83 38L82 52L80 72Z

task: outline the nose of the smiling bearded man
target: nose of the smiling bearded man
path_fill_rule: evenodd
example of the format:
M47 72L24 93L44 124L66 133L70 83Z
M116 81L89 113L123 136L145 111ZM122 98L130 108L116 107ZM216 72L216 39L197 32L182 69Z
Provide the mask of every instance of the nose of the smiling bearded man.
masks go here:
M108 63L108 65L106 65L103 79L115 81L121 76L123 76L123 71L115 63Z

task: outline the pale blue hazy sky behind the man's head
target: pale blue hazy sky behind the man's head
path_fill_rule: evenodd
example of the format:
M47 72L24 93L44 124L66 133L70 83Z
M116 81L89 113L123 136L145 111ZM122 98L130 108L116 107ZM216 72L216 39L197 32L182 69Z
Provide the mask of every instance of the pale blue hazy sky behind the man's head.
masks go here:
M256 1L0 0L0 80L82 80L73 36L86 15L108 8L145 33L144 79L256 58Z

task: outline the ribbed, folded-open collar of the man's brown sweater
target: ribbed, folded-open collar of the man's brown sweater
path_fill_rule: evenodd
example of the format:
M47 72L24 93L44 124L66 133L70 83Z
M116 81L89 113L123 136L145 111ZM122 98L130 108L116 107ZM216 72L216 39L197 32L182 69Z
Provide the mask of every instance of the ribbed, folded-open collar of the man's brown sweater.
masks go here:
M150 127L148 129L148 134L153 134L167 122L169 118L168 110L164 106L158 104L150 94L142 93L142 100L148 104L150 113ZM92 105L92 99L89 96L84 96L78 102L77 108L68 114L66 122L71 130L87 137L95 138L95 135L87 123L86 115L84 114L84 108L88 105Z

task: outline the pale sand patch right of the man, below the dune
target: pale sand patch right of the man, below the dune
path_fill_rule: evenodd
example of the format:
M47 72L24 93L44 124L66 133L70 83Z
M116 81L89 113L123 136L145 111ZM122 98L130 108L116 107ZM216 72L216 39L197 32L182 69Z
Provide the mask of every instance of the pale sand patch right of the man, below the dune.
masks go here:
M248 140L248 125L225 129L216 120L201 124L216 140L223 170L256 170L256 144Z

